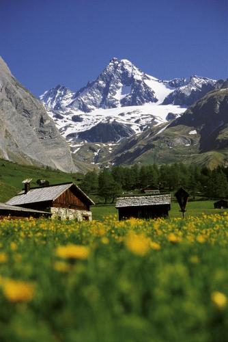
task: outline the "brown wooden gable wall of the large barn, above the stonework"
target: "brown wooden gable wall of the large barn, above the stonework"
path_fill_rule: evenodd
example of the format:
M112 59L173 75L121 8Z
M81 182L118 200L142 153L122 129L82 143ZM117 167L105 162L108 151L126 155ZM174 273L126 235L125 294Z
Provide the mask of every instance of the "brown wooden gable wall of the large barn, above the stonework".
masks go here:
M53 207L69 208L69 209L81 209L88 210L89 205L87 205L79 196L74 194L72 189L67 189L63 192L54 202Z

